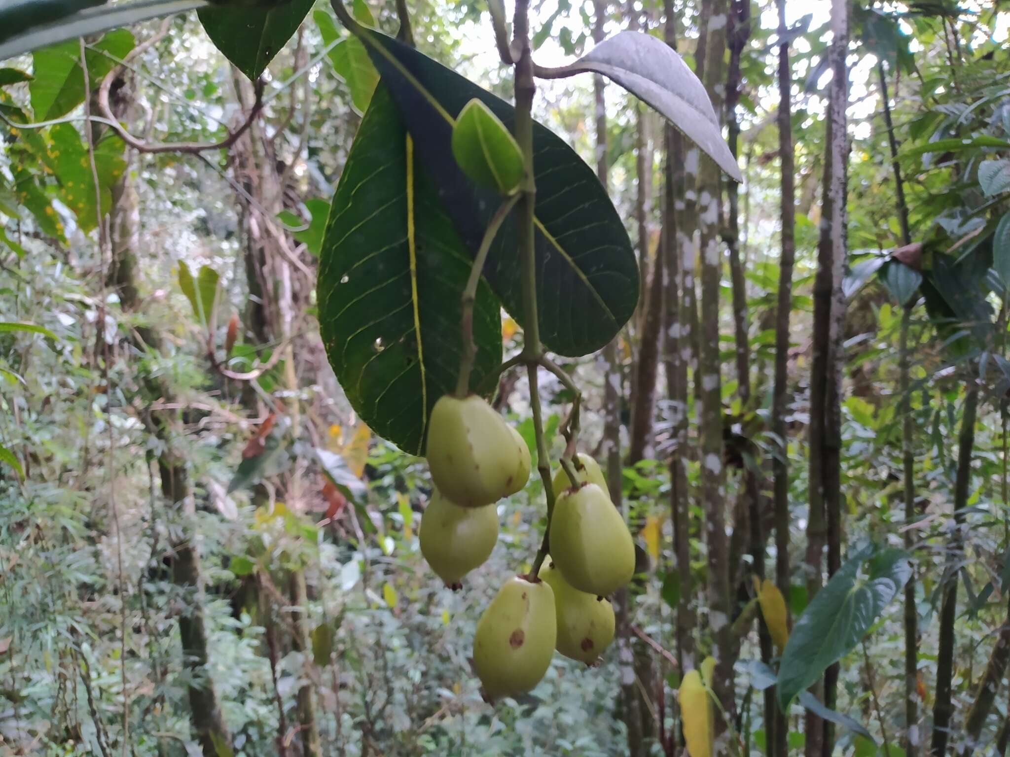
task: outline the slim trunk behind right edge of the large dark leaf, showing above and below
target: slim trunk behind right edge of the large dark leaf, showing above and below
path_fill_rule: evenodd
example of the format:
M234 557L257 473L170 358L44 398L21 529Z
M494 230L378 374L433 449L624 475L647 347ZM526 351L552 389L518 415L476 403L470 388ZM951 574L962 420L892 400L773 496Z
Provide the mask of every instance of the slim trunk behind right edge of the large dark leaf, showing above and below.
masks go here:
M593 24L593 39L599 43L604 36L603 25L606 21L607 6L605 0L595 0L595 22ZM608 187L607 167L607 112L603 97L604 81L601 76L593 77L593 92L595 100L596 121L596 174L604 188ZM603 361L606 368L604 377L605 390L603 398L604 412L604 443L603 451L606 462L607 485L610 489L610 499L614 507L624 511L621 504L621 485L623 478L623 463L621 460L621 391L623 379L617 352L617 342L620 336L603 348ZM626 517L626 513L625 513ZM628 591L620 589L614 596L617 611L617 658L620 665L620 701L621 719L627 728L628 754L631 757L644 755L644 743L641 733L641 716L638 712L638 688L635 685L634 653L631 649L630 612L628 607Z

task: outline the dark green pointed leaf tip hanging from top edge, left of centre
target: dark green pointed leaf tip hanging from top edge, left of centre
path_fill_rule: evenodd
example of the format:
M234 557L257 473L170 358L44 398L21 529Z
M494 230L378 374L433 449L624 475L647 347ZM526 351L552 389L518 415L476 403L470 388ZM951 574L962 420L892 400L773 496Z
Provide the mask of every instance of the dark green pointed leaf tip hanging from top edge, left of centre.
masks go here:
M212 5L197 12L204 31L221 53L257 80L294 34L313 0L273 5Z

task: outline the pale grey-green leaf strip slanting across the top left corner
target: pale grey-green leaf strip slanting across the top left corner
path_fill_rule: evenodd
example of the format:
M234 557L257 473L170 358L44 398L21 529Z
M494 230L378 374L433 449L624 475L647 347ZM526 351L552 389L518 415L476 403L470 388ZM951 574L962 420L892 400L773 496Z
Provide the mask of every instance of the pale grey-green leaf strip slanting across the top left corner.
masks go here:
M27 0L32 2L33 0ZM65 42L68 39L100 34L120 26L132 26L152 18L184 13L202 8L207 0L140 0L139 2L103 5L72 13L58 21L52 16L41 23L14 31L9 39L0 41L0 61L25 52ZM6 25L0 28L7 30Z

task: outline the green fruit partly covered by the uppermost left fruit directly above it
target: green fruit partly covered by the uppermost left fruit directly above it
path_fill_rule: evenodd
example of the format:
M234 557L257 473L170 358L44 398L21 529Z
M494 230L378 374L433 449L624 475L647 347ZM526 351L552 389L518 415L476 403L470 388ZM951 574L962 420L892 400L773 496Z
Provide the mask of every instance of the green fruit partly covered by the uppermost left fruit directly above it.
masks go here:
M461 508L438 490L431 494L420 529L421 554L431 569L450 588L460 588L460 579L484 564L498 541L498 509Z

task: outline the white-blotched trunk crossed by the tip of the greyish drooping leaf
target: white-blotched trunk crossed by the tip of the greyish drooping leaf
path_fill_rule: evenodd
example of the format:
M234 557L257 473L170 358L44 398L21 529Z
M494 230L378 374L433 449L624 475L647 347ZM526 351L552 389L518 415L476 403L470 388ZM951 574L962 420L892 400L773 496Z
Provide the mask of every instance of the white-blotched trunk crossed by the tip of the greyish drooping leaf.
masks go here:
M727 8L725 0L715 0L708 23L705 60L705 88L717 114L722 112L725 68ZM701 321L695 395L699 404L701 430L701 499L705 507L708 543L708 621L716 658L712 688L724 716L715 719L714 754L729 753L726 718L734 717L733 657L730 623L729 543L726 538L725 471L723 470L722 381L719 356L719 283L722 249L719 239L719 198L721 175L709 159L701 166L698 191L698 218L701 232Z

